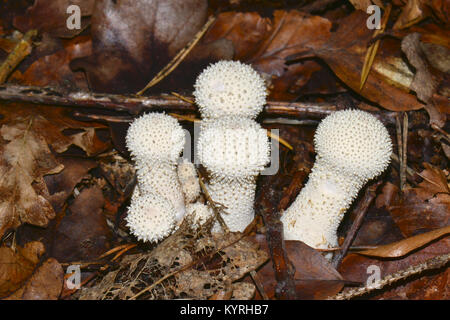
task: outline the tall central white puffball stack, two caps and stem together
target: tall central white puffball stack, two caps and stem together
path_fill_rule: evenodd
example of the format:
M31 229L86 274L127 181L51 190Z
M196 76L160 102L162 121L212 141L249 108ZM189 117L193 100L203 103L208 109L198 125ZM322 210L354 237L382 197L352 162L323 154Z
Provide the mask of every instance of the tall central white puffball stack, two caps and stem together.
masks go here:
M254 218L256 177L269 162L267 132L254 121L266 103L262 77L239 61L219 61L195 82L195 101L203 117L198 153L208 170L208 191L226 207L231 231L244 231ZM221 228L216 222L214 231Z

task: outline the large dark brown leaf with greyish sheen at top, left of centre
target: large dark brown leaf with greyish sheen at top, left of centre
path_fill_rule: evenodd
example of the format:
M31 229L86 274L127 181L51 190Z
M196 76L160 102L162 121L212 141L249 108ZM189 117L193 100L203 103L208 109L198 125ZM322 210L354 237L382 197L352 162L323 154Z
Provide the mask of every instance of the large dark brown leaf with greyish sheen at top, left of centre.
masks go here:
M93 54L71 66L96 92L137 92L192 40L206 14L206 0L98 0Z

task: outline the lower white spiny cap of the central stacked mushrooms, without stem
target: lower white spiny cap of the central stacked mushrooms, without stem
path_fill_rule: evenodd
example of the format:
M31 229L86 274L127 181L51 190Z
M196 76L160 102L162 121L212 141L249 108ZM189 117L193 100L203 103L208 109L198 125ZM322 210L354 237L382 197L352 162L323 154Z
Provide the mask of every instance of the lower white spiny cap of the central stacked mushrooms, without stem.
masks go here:
M258 175L270 159L266 130L239 117L202 121L197 150L200 162L221 177Z

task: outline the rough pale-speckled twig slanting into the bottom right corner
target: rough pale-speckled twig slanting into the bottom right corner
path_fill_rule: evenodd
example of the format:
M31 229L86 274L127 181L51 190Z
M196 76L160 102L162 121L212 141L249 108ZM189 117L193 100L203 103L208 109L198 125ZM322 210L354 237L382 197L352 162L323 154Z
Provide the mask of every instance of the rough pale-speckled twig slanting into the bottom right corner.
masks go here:
M390 285L394 282L397 282L399 280L406 279L410 276L420 274L423 271L426 270L433 270L433 269L439 269L443 266L445 266L450 261L450 253L440 255L431 259L428 259L427 261L420 263L415 266L408 267L404 270L400 270L398 272L395 272L393 274L390 274L383 279L379 280L377 283L369 286L365 286L362 288L356 288L349 290L347 292L339 293L333 297L329 297L328 300L348 300L352 298L356 298L359 296L362 296L364 294L370 293L374 290L382 289L383 287Z

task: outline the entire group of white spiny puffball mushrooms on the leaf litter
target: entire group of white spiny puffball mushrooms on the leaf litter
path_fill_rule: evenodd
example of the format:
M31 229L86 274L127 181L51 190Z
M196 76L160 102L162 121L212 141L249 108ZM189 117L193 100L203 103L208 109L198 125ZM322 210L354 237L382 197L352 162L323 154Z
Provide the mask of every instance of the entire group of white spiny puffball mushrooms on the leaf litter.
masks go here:
M266 95L261 76L237 61L210 65L195 83L202 116L197 157L208 172L209 195L224 207L222 218L233 232L254 219L256 178L270 160L267 132L255 121ZM213 216L200 197L194 164L180 158L185 135L175 118L144 114L130 125L126 142L138 179L126 219L139 240L160 241L186 216L198 225ZM319 124L314 145L308 182L281 221L285 239L327 249L337 246L337 228L359 190L387 168L392 143L373 115L344 110ZM224 230L216 221L212 231Z

